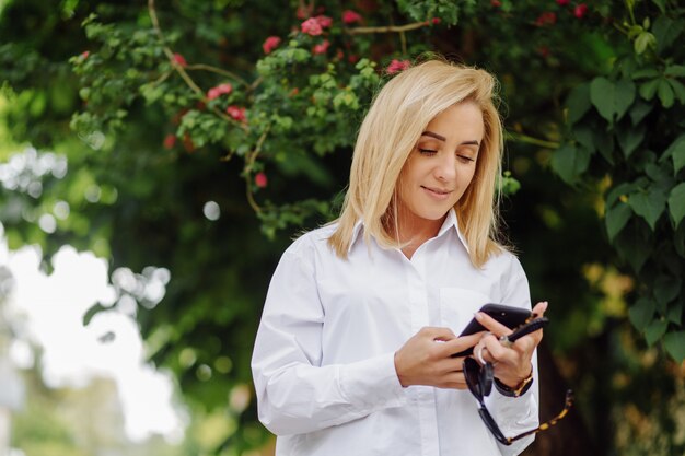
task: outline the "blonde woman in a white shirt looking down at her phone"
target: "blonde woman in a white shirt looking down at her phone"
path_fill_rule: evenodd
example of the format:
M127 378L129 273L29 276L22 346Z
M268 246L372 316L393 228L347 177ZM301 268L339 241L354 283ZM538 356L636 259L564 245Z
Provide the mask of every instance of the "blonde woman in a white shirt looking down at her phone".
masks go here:
M496 441L464 358L451 356L475 346L494 363L486 404L504 435L537 425L542 331L506 347L496 336L509 328L477 313L531 307L518 259L496 242L495 85L430 60L375 97L339 219L286 250L267 294L253 374L277 455L515 455L532 442ZM492 334L456 337L474 314Z

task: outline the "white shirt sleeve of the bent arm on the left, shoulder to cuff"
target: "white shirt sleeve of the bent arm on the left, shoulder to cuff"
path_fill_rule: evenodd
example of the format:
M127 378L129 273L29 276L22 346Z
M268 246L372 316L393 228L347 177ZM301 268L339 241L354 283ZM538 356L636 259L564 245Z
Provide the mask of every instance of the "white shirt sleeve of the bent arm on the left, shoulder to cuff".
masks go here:
M317 431L406 402L394 353L322 365L325 314L305 241L286 250L276 268L252 358L259 421L277 435Z

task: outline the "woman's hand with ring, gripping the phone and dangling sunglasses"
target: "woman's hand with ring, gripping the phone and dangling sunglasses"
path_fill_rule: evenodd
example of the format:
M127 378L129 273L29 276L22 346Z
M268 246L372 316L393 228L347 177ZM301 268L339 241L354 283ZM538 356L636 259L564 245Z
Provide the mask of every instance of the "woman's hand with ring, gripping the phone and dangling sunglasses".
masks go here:
M533 307L533 313L542 317L547 309L547 302L541 302ZM474 347L474 354L480 353L484 361L492 363L495 377L501 383L515 388L526 378L532 370L533 351L543 340L543 330L538 329L530 335L523 336L511 344L504 347L498 340L500 336L510 335L511 328L506 327L489 315L481 312L476 313L476 319L490 332L483 336L480 341ZM478 360L478 356L475 356ZM480 360L478 360L480 362Z

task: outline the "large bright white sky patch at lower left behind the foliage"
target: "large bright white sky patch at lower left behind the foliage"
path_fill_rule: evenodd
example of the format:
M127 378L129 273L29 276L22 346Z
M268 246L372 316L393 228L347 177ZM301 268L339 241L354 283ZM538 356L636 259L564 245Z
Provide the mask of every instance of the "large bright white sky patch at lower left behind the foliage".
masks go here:
M14 278L10 314L23 320L26 334L21 336L43 348L46 384L79 387L95 376L114 378L129 439L162 434L179 442L185 424L173 406L171 377L146 364L136 321L119 312L102 312L89 326L82 324L93 304L112 305L116 299L106 261L70 246L54 256L53 274L43 273L39 261L36 247L9 252L0 225L0 265L8 266ZM100 341L105 335L114 338ZM15 346L10 354L18 366L26 367L32 356L25 343Z

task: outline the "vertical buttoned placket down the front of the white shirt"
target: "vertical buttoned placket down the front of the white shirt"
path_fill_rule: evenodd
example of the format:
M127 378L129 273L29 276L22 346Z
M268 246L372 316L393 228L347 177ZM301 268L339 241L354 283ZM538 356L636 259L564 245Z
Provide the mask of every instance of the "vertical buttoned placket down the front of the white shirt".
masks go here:
M407 272L408 296L411 308L411 334L416 334L422 327L429 326L428 288L425 274L421 273L423 265L418 255L415 254L414 259L404 261L404 265ZM439 456L440 445L434 388L417 386L414 389L421 432L421 456Z

